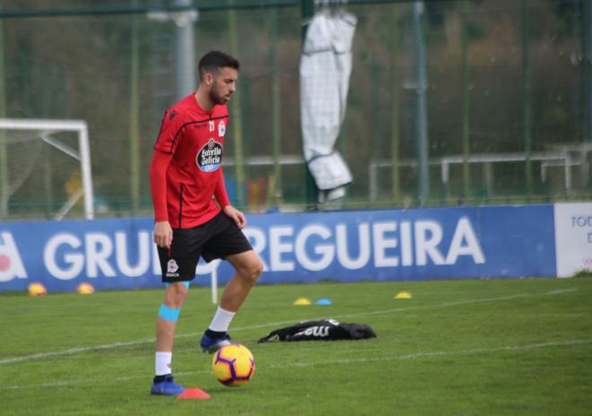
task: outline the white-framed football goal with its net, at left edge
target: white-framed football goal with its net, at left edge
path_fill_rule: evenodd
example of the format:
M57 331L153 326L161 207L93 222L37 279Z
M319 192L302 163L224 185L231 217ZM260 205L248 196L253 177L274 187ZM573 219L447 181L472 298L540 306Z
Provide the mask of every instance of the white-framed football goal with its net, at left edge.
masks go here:
M0 118L0 218L94 217L88 126Z

